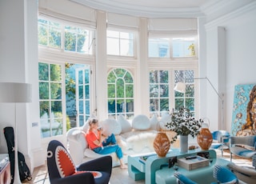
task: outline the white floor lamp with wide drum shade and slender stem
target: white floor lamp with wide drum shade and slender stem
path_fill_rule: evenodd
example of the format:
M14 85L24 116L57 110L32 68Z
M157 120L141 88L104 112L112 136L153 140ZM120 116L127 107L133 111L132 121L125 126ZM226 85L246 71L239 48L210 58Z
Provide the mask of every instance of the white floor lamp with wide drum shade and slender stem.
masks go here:
M14 184L22 183L19 178L18 170L18 134L17 134L17 120L16 120L16 104L31 102L31 85L27 83L17 82L0 82L0 102L2 103L14 103L15 109L15 128L14 128Z

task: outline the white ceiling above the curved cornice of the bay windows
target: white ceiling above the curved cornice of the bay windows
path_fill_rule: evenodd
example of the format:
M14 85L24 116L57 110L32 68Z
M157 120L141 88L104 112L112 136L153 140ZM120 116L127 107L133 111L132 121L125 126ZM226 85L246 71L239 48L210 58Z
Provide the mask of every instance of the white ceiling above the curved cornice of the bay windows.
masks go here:
M140 17L198 17L213 0L70 0L97 10ZM214 0L216 1L216 0Z

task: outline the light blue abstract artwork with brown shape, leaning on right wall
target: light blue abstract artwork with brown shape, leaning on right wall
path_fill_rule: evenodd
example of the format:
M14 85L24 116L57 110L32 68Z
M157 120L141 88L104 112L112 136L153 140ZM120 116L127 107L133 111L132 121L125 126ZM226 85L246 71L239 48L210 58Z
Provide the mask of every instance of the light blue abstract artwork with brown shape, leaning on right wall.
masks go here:
M231 135L256 134L256 84L234 86Z

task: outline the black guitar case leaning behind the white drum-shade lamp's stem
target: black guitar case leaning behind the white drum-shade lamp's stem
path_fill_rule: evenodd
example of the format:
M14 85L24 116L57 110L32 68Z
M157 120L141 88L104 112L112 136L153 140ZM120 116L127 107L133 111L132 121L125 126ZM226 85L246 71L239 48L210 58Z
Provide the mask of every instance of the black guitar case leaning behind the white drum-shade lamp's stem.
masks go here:
M15 151L14 151L14 128L7 126L3 129L6 138L6 144L8 148L8 154L10 159L10 175L12 184L14 182L14 166L15 166ZM30 181L32 179L30 174L30 168L26 165L24 155L18 151L18 170L19 178L21 182Z

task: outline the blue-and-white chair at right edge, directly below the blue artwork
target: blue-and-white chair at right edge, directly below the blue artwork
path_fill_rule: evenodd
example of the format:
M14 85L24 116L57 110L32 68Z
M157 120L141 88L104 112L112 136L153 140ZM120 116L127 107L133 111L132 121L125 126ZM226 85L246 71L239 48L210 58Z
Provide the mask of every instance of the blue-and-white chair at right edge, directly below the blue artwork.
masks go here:
M230 137L230 161L232 154L242 158L252 158L256 154L256 135Z

